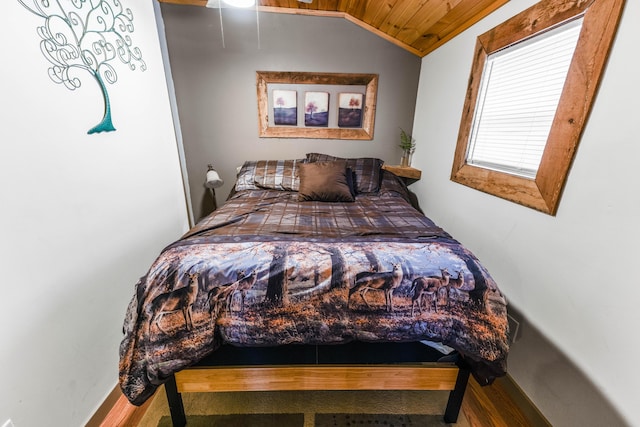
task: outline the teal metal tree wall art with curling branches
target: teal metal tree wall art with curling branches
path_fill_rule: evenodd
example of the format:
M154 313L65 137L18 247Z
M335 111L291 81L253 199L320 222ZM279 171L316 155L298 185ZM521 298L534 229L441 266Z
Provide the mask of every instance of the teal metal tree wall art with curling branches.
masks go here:
M91 74L104 96L104 117L88 133L116 130L106 84L118 80L111 65L119 59L130 70L147 69L142 52L133 46L131 9L119 0L18 0L27 10L44 19L37 32L40 50L52 64L48 74L55 83L75 90L81 86L79 71ZM29 3L29 4L27 4Z

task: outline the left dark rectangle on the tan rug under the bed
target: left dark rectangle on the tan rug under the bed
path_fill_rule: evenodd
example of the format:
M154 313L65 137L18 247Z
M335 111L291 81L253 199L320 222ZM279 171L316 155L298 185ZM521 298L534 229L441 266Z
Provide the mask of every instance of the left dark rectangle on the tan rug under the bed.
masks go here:
M189 427L303 427L304 414L232 414L187 416ZM162 417L158 427L171 427L171 417Z

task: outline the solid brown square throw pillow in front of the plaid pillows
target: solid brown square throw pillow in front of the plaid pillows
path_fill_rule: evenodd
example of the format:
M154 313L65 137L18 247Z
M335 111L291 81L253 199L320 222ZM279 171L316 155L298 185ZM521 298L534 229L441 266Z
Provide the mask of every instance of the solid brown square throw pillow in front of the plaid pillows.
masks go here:
M298 200L320 202L353 202L349 188L347 164L344 161L300 163Z

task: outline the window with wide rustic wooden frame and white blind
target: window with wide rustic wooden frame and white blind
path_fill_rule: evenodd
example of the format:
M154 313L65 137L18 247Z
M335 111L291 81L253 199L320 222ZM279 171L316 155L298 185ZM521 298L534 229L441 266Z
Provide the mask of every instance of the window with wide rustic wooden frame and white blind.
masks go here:
M478 37L453 181L555 215L623 3L543 0Z

